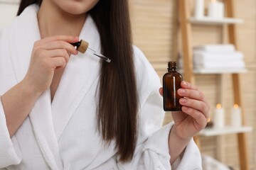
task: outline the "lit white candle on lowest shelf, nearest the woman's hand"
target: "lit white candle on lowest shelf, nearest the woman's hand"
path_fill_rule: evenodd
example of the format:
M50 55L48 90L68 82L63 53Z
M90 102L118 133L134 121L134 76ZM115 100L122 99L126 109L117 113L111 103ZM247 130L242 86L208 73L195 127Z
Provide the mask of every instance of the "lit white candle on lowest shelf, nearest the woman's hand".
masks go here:
M225 125L225 112L224 109L221 107L221 104L217 104L215 108L213 123L214 128L223 128Z

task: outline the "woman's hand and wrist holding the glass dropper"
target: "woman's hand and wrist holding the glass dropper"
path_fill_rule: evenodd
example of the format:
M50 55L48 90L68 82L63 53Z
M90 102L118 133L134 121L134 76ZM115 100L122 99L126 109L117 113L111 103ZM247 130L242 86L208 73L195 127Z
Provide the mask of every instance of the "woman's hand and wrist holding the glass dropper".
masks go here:
M33 45L31 62L23 81L38 93L43 93L50 87L55 69L65 67L70 54L77 55L72 42L78 42L77 37L55 35L38 40Z

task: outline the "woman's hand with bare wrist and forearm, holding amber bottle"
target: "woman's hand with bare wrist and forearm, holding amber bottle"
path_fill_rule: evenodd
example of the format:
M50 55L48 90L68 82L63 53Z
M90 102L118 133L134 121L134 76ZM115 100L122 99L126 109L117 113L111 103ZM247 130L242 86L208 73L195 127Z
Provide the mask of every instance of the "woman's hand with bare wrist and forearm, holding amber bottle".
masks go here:
M163 88L160 88L159 92L163 95ZM206 127L210 113L210 105L204 94L188 82L181 82L178 95L182 97L179 100L182 111L171 112L175 123L169 134L171 164L183 152L192 137Z

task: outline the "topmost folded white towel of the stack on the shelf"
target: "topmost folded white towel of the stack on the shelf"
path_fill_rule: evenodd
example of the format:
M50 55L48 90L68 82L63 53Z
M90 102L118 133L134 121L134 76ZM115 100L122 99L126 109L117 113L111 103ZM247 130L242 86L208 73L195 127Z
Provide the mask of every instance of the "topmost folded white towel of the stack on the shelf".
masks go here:
M193 50L203 50L206 52L235 52L235 46L231 44L225 45L198 45Z

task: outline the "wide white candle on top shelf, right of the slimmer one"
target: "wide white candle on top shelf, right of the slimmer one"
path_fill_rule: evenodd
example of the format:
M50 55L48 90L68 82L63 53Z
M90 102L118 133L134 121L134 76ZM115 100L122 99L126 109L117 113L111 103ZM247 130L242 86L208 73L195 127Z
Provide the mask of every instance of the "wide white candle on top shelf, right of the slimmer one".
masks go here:
M224 17L223 2L212 0L208 5L208 16L210 18L223 18Z

